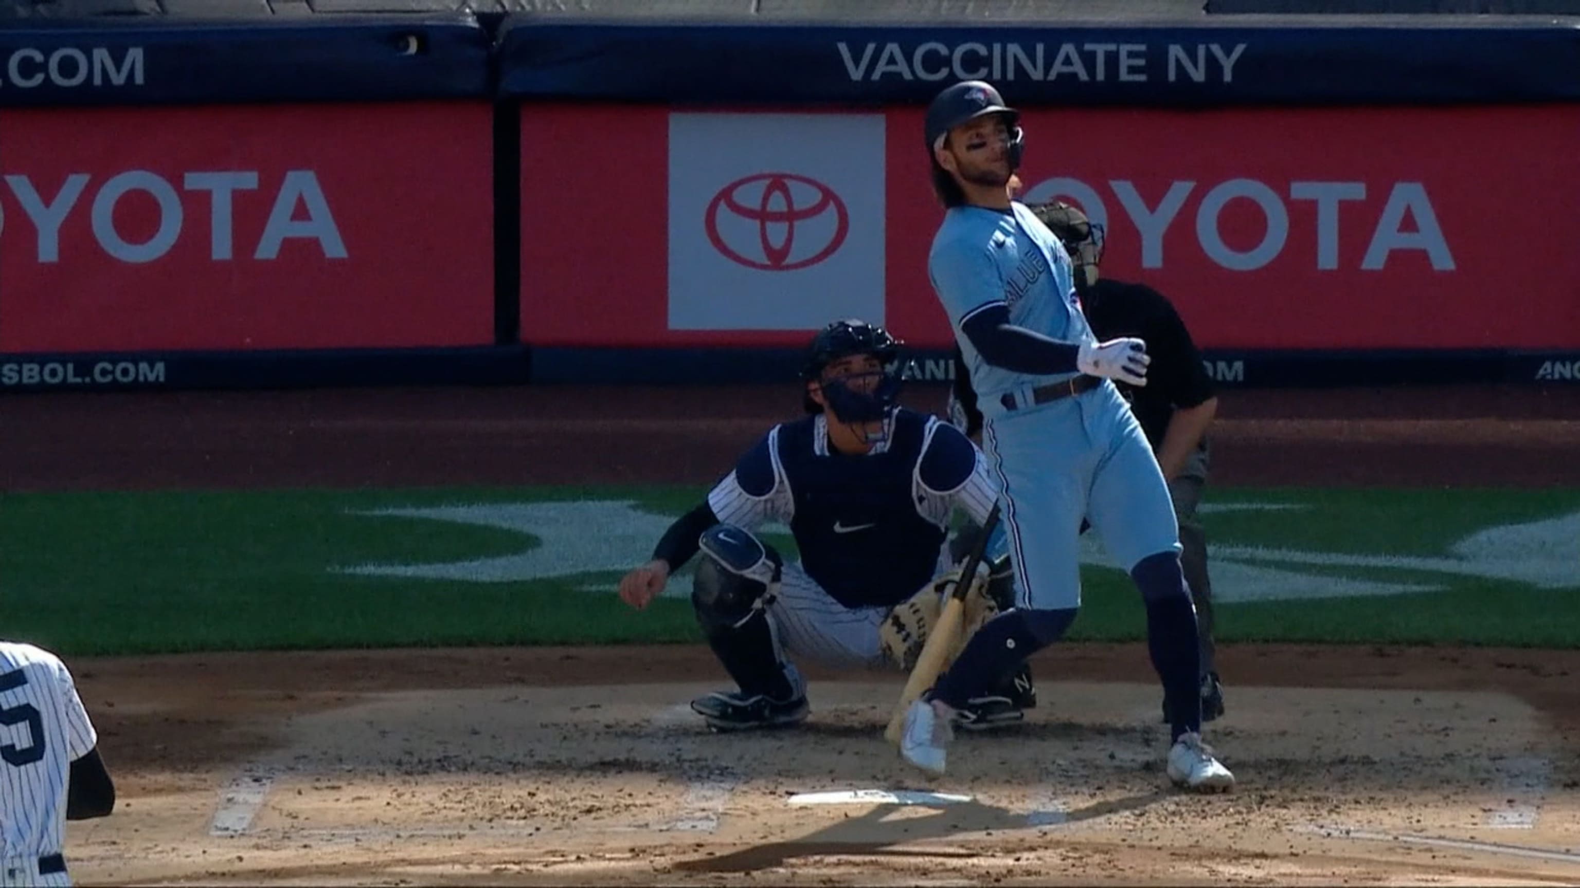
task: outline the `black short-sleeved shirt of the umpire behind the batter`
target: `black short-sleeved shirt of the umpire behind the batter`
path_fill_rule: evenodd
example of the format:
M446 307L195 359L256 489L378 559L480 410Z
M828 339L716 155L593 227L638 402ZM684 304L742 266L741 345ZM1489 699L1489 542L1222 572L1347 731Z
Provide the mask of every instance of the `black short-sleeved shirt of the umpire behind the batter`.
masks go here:
M1097 286L1082 295L1081 310L1098 341L1119 337L1146 340L1152 356L1147 384L1141 389L1123 382L1115 386L1157 450L1176 409L1193 408L1213 397L1212 378L1202 367L1190 330L1174 305L1147 284L1098 278Z

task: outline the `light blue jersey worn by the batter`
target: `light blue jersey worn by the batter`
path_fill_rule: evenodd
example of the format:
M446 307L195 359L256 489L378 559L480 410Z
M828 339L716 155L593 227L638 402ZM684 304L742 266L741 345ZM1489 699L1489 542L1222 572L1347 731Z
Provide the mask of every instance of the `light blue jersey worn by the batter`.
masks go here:
M951 209L934 235L927 277L954 325L980 403L997 401L999 395L1024 386L1068 379L1073 373L1036 376L986 363L962 333L973 314L1003 305L1016 327L1066 343L1093 341L1076 299L1070 256L1024 204L1011 204L1010 212Z

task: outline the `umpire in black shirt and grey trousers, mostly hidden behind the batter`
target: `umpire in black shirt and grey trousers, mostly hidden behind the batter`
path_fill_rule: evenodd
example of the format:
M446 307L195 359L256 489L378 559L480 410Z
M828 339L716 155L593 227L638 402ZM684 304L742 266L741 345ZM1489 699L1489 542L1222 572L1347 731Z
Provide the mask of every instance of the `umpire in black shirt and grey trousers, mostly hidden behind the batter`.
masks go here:
M1174 514L1180 528L1180 561L1191 597L1196 600L1196 624L1201 635L1201 717L1212 721L1223 714L1223 684L1213 662L1212 580L1207 575L1207 534L1196 507L1207 484L1207 428L1218 412L1218 397L1207 376L1201 352L1185 329L1179 311L1161 292L1147 284L1115 281L1098 275L1103 261L1103 226L1093 224L1079 209L1054 201L1030 205L1063 242L1074 262L1076 295L1098 341L1139 337L1147 343L1152 365L1147 386L1134 389L1115 382L1130 401L1136 420L1152 444L1163 477L1169 484ZM959 346L954 349L954 387L951 419L976 438L981 414L972 392ZM1168 703L1164 703L1164 719Z

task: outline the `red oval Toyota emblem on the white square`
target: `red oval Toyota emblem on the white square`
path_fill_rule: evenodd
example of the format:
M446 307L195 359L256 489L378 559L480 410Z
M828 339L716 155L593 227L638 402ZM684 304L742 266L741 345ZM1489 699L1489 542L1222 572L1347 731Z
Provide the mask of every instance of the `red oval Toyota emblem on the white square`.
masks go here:
M725 213L746 223L725 221L735 235L728 240L719 232ZM839 194L815 179L760 172L720 188L708 202L705 224L713 248L732 262L763 272L793 272L839 250L850 232L850 212Z

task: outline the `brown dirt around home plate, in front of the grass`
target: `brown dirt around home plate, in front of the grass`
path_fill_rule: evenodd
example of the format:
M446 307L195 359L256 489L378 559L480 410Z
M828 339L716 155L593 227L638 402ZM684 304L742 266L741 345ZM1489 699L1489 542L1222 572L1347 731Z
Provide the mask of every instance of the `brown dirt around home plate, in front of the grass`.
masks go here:
M716 687L690 646L96 660L79 678L123 801L73 825L71 860L92 883L1580 877L1580 653L1221 660L1229 796L1168 788L1138 645L1040 656L1033 717L962 736L931 784L880 736L897 676L812 670L807 725L722 736L683 706ZM867 795L796 804L831 792Z

